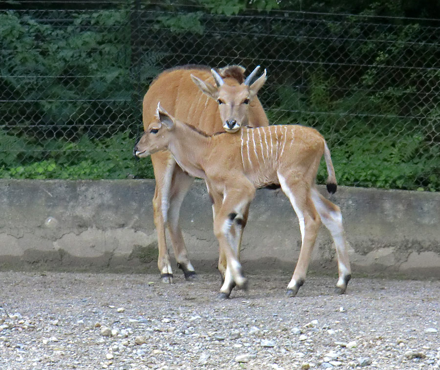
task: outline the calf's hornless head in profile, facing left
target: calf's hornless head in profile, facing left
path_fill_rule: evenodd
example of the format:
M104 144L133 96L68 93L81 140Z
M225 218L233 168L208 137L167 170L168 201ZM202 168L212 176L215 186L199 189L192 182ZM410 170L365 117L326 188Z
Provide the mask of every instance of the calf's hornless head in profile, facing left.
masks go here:
M134 154L139 158L168 148L171 131L174 129L174 117L157 104L156 117L148 125L144 134L134 146Z

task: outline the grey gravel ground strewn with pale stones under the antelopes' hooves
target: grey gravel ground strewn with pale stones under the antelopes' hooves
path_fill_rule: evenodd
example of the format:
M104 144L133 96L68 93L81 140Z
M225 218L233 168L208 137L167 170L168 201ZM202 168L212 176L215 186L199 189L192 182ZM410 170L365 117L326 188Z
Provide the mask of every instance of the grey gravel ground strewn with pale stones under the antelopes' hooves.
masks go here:
M248 277L0 272L0 369L440 369L439 281Z

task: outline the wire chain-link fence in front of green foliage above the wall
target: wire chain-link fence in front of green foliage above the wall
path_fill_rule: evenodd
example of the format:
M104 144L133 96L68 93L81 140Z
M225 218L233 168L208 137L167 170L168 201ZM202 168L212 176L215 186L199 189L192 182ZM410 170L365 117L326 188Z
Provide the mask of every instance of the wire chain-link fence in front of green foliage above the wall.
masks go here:
M440 189L440 21L136 3L0 11L0 177L151 176L142 97L183 64L267 68L271 124L321 131L340 184Z

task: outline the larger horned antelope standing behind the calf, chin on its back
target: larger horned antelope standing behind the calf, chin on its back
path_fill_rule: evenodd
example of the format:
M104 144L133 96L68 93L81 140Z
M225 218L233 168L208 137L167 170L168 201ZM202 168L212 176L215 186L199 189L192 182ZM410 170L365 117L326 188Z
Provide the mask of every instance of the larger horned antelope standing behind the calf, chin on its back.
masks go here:
M144 96L144 130L155 122L159 100L177 119L191 121L199 130L209 134L223 129L234 132L241 126L267 126L269 123L264 109L256 96L264 84L265 71L252 82L258 69L256 67L247 78L244 78L245 69L239 65L226 66L218 71L200 65L184 65L165 70L156 77ZM195 271L183 241L179 214L183 198L194 178L176 166L170 152L156 152L151 159L156 179L153 210L159 249L157 266L161 281L173 282L173 270L165 242L166 226L177 265L183 270L185 278L191 279ZM215 206L213 204L213 209ZM226 262L221 254L219 269L224 275Z

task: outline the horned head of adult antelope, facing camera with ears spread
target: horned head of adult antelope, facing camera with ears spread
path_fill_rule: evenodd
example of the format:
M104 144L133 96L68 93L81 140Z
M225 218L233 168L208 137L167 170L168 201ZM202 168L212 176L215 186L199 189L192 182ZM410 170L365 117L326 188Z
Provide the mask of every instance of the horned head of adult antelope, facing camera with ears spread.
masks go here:
M191 75L191 79L198 88L209 97L219 103L220 118L223 128L226 132L237 132L242 126L246 126L249 117L249 103L257 95L258 90L266 81L266 70L263 74L251 84L260 66L258 65L247 76L243 83L239 86L231 86L223 81L223 78L216 70L211 69L211 73L216 82L216 86L208 82L200 80L198 77Z

